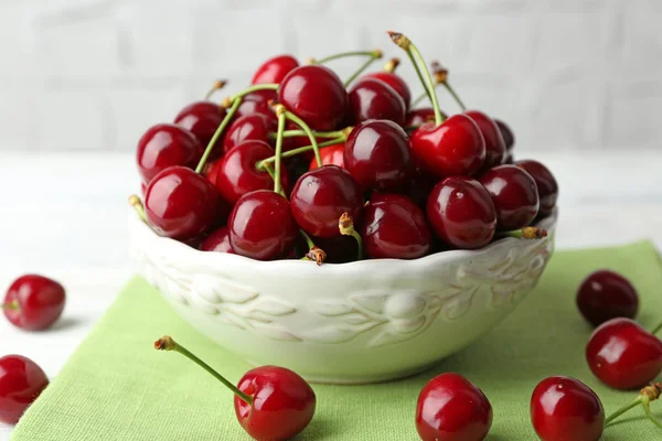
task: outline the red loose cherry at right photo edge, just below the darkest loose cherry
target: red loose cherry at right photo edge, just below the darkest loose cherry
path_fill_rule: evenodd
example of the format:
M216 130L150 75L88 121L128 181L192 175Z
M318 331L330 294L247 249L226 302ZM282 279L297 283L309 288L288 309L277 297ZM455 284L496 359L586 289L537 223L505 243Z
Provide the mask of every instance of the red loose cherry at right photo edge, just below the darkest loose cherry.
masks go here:
M638 389L662 372L662 341L630 319L611 319L586 346L590 370L615 389Z

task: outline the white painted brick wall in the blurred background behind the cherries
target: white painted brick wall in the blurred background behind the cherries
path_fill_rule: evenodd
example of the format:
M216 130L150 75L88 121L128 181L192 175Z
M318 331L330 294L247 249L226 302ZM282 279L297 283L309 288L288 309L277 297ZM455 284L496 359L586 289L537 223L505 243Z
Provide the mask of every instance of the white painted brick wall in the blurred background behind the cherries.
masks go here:
M450 66L465 101L530 149L655 148L660 23L662 0L0 0L0 151L132 150L271 54L402 56L386 30Z

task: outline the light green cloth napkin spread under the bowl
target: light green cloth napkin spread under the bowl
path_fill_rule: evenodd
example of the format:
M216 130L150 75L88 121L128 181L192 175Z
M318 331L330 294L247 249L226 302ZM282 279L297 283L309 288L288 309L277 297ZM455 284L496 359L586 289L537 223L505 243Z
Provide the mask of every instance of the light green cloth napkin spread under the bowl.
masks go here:
M590 271L610 268L632 280L641 295L639 322L662 321L662 269L654 247L557 252L538 287L501 325L436 368L408 379L371 386L313 385L318 408L297 440L417 440L418 392L435 375L457 372L492 402L488 440L535 440L528 402L544 377L569 375L589 385L609 413L636 392L602 386L589 372L584 346L591 329L575 306ZM142 279L125 288L61 374L28 410L14 441L249 440L234 416L232 394L204 370L152 343L162 334L195 352L237 381L246 363L180 320ZM662 402L653 402L658 415ZM640 409L608 428L605 440L661 440Z

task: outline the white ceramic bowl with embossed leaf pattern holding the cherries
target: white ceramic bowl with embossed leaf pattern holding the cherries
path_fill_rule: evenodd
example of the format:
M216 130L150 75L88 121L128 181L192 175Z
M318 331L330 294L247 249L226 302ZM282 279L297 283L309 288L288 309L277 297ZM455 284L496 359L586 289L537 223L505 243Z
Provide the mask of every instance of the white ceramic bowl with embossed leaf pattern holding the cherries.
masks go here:
M543 272L555 225L556 214L542 220L543 239L321 267L199 251L135 214L130 234L140 273L221 346L312 381L361 384L424 370L505 319Z

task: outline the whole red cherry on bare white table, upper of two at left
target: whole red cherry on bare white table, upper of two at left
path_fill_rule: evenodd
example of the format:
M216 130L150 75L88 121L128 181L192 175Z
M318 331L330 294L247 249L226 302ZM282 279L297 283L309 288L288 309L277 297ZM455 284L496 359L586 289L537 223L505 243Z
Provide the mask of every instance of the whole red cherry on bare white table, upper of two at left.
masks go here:
M62 315L66 294L62 284L39 275L19 277L7 290L4 315L18 327L41 331Z

